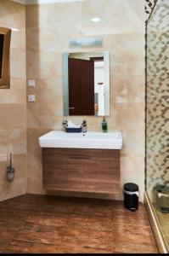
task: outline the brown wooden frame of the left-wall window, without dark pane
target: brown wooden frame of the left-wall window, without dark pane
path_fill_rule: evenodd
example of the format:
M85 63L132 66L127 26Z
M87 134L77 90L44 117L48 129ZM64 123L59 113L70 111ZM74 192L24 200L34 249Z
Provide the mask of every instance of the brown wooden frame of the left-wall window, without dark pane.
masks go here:
M0 27L0 34L4 35L2 76L0 78L0 89L10 88L10 38L11 29Z

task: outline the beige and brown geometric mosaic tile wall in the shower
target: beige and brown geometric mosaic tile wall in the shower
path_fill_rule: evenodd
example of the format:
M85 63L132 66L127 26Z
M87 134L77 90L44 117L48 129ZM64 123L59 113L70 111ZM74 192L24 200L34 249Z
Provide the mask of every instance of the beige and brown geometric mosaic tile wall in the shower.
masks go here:
M169 2L158 0L148 25L147 189L169 183Z

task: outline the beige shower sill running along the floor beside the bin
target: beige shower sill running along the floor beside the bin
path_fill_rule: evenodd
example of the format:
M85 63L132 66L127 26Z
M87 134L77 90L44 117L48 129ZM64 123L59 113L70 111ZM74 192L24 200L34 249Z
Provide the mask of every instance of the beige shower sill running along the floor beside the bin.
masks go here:
M159 224L158 219L155 216L155 210L149 200L149 195L146 191L144 192L144 204L145 204L148 216L149 216L149 221L150 221L152 230L154 232L155 241L156 241L157 247L159 249L159 252L160 253L169 253L169 250L166 246L166 241L161 232L161 226Z

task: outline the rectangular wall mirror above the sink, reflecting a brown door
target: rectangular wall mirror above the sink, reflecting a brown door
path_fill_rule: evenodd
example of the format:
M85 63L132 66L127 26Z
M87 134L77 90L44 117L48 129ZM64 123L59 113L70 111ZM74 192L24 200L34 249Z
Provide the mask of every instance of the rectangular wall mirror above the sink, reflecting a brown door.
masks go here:
M110 115L110 56L65 53L62 59L64 115Z

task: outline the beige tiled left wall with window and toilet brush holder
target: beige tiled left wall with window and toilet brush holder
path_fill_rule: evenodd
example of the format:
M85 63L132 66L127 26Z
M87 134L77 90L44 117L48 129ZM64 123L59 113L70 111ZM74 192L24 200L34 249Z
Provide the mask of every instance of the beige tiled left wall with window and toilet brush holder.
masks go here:
M0 1L0 26L12 32L10 50L11 88L0 90L0 201L26 192L26 68L25 6ZM13 152L15 179L6 178L7 155Z

